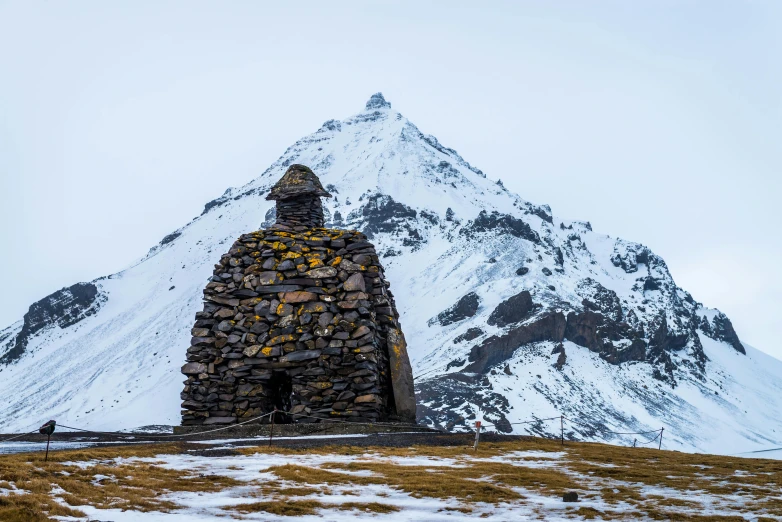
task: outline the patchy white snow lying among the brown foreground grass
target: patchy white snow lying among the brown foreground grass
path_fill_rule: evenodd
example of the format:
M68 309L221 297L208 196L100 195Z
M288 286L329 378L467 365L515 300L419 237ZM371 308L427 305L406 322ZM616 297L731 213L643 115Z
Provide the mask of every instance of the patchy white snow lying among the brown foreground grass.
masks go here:
M263 450L262 450L263 451ZM169 470L198 476L229 477L238 481L239 485L227 487L216 492L180 492L166 494L165 500L176 503L179 508L170 512L139 512L134 510L98 509L89 505L71 506L79 509L89 520L112 520L113 522L181 522L181 521L215 521L226 518L240 518L242 520L431 520L454 521L468 520L478 517L488 517L491 520L583 520L589 515L601 518L617 514L630 514L633 520L651 520L659 514L667 513L680 515L738 515L745 520L756 520L759 515L768 514L765 508L755 507L753 510L752 495L745 491L741 494L715 494L704 490L682 490L678 487L665 484L639 484L622 480L621 475L594 476L590 472L584 472L578 468L572 469L575 462L590 466L618 469L621 466L611 462L591 462L574 460L576 457L568 453L569 450L557 451L554 449L514 450L512 448L494 449L486 454L485 450L477 454L470 449L451 452L450 456L427 455L425 448L417 448L414 451L367 449L348 454L314 452L307 453L274 453L263 451L261 453L246 452L242 455L230 456L201 456L191 454L161 454L154 457L131 457L113 459L118 466L158 466ZM662 452L663 455L674 455ZM592 456L593 460L597 457ZM106 460L92 462L64 462L66 466L78 466L89 469L90 466L100 463L106 465ZM415 492L404 491L404 488L393 487L382 483L366 483L353 485L350 483L339 484L312 484L297 483L290 479L282 481L279 491L284 495L286 488L302 486L315 486L313 493L284 497L264 496L259 494L265 484L280 484L280 478L275 475L280 466L297 466L307 469L326 470L336 472L349 477L380 477L381 471L367 471L348 469L351 466L394 466L397 468L416 467L421 473L434 473L431 480L448 480L439 472L459 469L477 469L490 463L510 465L519 470L549 470L564 474L577 484L581 491L580 501L576 504L565 503L561 496L548 491L546 488L510 486L510 489L519 494L518 500L502 502L472 502L466 498L460 498L458 492L451 498L433 498L426 495L417 495ZM625 463L620 463L625 464ZM749 466L751 461L747 461ZM741 465L741 464L739 464ZM712 466L692 466L694 474L708 473ZM496 473L494 470L490 473ZM680 473L672 472L672 473ZM757 471L749 472L737 469L732 475L736 480L741 477L752 477ZM534 482L534 475L531 476ZM99 479L106 476L94 477L93 483L99 483ZM108 477L110 478L110 477ZM669 477L676 478L676 477ZM715 482L720 482L720 477L712 477ZM493 484L491 474L474 480ZM546 481L545 476L541 476ZM737 488L738 489L738 488ZM779 489L777 486L776 489ZM610 498L611 493L622 493L635 490L637 496L630 495L627 500ZM60 491L64 493L64 491ZM0 495L10 494L8 491L0 491ZM57 495L55 488L53 494ZM311 514L297 514L284 516L266 511L246 512L243 506L250 506L259 501L276 499L280 503L302 503L315 501L315 512ZM346 509L346 503L353 505L391 506L393 512L385 513L382 509L373 508L374 511L361 511L359 509ZM653 511L652 511L653 510ZM660 511L662 510L662 511ZM650 518L647 514L657 513ZM62 521L83 521L84 518L60 516ZM769 519L770 520L770 519Z

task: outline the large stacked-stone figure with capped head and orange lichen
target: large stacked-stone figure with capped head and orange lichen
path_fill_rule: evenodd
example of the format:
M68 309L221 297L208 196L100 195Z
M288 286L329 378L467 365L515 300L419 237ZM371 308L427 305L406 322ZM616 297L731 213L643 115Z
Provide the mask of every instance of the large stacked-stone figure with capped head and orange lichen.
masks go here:
M317 176L292 165L271 189L277 221L215 265L182 373L182 424L415 422L399 314L374 246L323 228ZM264 419L267 422L269 418Z

